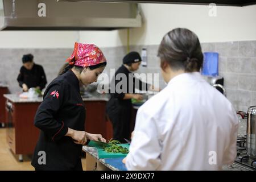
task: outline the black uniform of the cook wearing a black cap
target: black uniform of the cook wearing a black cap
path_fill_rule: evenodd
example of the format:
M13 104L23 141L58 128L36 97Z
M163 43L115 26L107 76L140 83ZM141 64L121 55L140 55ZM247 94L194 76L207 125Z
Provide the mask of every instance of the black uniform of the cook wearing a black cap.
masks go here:
M142 82L141 80L138 80L138 78L134 77L133 73L131 73L124 65L122 65L120 68L118 68L117 72L115 72L110 87L114 86L115 88L118 82L122 81L122 78L121 80L115 79L115 76L118 75L118 73L125 74L127 80L126 88L122 88L121 86L122 93L111 93L114 89L112 88L111 90L110 88L110 100L106 105L106 113L108 114L110 121L113 125L113 139L119 140L122 143L126 143L124 138L130 138L130 121L132 105L130 99L123 100L123 97L125 97L125 93L129 93L130 89L132 93L135 93L135 81L138 81L139 83L139 87L137 88L139 90L147 90L148 84ZM129 77L130 79L133 79L133 81L130 82L130 84Z

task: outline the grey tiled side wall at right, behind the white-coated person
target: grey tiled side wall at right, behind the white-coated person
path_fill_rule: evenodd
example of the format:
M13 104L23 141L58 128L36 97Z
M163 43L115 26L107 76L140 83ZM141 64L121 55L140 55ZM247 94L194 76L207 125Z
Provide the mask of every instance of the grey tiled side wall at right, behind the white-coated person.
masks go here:
M219 75L224 77L227 98L236 110L247 111L256 105L256 41L202 43L203 52L219 53ZM138 72L160 73L159 59L156 56L158 46L147 48L148 67ZM131 50L141 52L142 46L133 46ZM165 86L160 76L160 88Z

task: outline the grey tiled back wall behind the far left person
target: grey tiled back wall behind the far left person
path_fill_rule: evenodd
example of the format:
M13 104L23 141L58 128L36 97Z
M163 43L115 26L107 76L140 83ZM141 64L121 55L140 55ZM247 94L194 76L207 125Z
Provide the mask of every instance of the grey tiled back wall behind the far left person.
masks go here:
M110 73L110 68L117 68L122 63L126 53L125 47L102 48L108 65L104 72ZM11 93L22 92L16 78L22 66L22 56L27 53L34 55L36 64L40 64L46 72L47 84L59 73L65 60L72 54L73 49L0 49L0 82L9 85Z

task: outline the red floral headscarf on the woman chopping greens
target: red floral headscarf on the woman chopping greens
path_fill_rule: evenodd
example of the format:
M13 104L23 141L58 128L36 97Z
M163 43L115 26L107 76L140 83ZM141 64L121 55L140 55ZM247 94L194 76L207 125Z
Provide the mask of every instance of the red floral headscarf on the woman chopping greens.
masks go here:
M106 58L101 49L94 44L81 44L76 42L74 51L66 62L80 67L89 67L106 62Z

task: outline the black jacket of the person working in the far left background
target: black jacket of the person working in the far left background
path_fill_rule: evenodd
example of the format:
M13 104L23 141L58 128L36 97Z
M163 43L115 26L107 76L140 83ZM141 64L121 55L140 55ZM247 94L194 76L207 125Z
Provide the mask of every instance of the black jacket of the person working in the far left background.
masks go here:
M22 66L20 68L17 80L21 88L22 84L26 84L28 88L39 86L42 90L47 84L44 69L38 64L34 64L31 70L28 70Z

